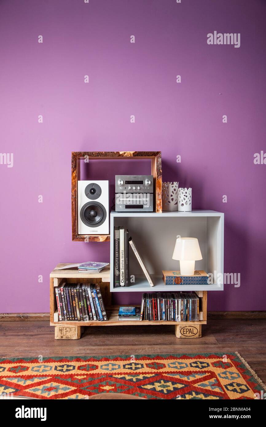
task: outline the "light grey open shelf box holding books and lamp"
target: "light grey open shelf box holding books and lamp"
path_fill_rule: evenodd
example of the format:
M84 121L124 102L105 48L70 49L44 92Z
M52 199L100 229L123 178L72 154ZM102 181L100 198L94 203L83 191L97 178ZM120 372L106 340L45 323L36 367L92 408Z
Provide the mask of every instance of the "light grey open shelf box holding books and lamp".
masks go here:
M129 287L114 288L114 226L123 226L137 246L144 264L155 283L150 287L142 269L129 247L130 275L134 282ZM224 214L216 211L191 212L111 212L110 220L110 291L111 292L167 292L223 290ZM162 270L179 270L179 261L172 259L177 236L197 237L202 260L196 261L196 270L213 275L209 285L164 285ZM215 278L218 277L218 283Z

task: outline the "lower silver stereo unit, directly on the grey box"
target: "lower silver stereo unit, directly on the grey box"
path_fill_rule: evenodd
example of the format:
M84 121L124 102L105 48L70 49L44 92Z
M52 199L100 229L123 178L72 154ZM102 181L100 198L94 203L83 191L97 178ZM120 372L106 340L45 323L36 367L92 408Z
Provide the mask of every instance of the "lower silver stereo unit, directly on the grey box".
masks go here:
M153 194L117 193L115 195L116 212L153 212Z

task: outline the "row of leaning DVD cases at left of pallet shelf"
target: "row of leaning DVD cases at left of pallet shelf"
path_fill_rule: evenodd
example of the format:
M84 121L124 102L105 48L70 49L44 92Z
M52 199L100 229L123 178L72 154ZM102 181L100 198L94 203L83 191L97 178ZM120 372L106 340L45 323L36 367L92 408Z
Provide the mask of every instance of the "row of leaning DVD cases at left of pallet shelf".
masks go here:
M98 284L62 283L55 287L59 320L107 320Z

